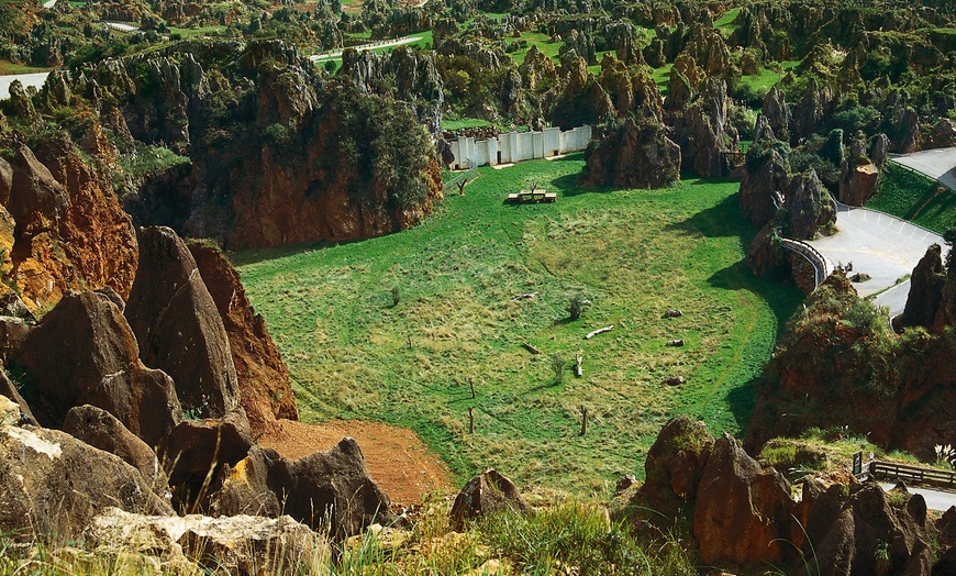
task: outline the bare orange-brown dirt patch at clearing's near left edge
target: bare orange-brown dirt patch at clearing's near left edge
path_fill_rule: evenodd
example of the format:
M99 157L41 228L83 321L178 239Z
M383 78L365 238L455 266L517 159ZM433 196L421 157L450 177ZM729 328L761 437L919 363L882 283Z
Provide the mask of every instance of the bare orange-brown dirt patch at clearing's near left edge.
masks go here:
M345 436L358 441L368 472L392 503L420 505L427 494L456 491L447 466L404 428L358 420L321 424L279 420L276 431L259 436L258 444L287 458L301 458L330 450Z

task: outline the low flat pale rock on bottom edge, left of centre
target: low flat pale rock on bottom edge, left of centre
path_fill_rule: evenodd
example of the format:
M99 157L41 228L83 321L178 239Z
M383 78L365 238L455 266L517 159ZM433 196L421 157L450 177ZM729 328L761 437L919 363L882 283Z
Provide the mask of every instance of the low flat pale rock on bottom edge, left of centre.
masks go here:
M169 517L108 508L92 519L84 538L100 557L143 554L163 574L312 574L331 557L322 536L288 516Z

